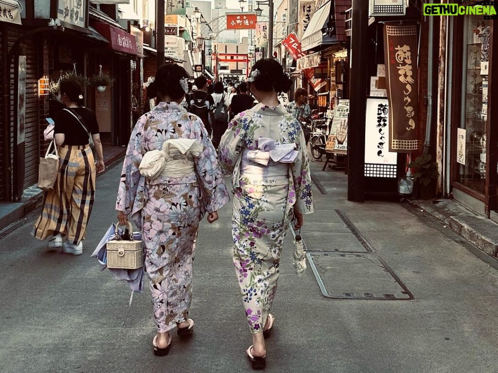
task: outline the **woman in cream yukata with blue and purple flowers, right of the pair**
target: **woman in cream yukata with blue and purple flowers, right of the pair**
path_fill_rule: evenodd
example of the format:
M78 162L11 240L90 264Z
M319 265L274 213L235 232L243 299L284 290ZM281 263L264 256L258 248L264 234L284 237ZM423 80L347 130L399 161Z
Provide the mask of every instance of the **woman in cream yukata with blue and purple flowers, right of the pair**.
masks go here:
M268 59L256 62L248 81L259 104L229 124L219 155L225 173L233 175L233 257L252 333L246 353L252 368L262 369L285 234L293 219L296 229L302 226L313 204L301 126L277 98L289 90L290 79Z

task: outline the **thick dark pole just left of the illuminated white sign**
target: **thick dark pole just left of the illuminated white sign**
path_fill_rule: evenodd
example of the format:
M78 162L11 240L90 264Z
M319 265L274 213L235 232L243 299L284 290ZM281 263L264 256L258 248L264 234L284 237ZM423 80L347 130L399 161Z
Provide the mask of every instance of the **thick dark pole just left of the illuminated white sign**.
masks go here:
M348 120L348 200L365 202L365 120L369 1L353 0Z

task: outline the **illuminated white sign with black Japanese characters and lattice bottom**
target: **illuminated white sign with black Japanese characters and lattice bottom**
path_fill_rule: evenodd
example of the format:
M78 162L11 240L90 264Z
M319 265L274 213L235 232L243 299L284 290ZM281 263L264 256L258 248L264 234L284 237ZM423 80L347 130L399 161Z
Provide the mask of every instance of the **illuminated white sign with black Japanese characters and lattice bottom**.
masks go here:
M389 101L367 98L365 176L396 177L397 153L389 152Z

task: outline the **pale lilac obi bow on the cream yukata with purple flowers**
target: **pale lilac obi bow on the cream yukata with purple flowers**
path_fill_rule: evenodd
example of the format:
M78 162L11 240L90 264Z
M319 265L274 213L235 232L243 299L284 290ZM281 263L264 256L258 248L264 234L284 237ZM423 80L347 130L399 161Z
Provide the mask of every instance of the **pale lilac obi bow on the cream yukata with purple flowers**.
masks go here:
M260 137L257 141L259 150L249 150L247 158L255 163L268 166L271 159L273 162L292 163L299 152L296 144L275 144L275 141L267 137Z

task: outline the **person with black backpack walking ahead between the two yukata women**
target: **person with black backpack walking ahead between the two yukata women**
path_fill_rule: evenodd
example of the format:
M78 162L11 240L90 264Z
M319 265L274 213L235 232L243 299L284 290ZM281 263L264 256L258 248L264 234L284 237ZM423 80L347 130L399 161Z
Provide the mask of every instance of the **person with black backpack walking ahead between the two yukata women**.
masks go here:
M187 111L197 115L204 123L204 127L211 137L212 127L211 123L214 122L213 111L215 109L215 102L211 94L207 92L208 81L206 77L200 76L194 79L194 86L192 87L192 94L187 99L189 106Z

